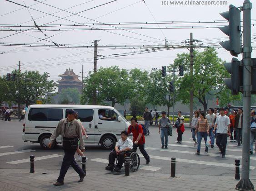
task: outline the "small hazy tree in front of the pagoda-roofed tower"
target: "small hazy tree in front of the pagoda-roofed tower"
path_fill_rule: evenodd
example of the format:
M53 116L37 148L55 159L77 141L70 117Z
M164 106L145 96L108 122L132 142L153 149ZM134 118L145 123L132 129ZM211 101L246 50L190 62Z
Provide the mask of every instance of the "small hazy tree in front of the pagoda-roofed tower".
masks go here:
M80 96L80 92L77 88L68 87L61 90L59 95L59 103L63 104L62 102L74 102L75 104L79 104Z

